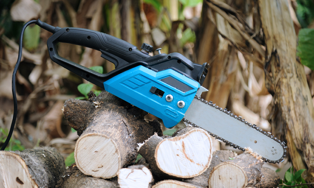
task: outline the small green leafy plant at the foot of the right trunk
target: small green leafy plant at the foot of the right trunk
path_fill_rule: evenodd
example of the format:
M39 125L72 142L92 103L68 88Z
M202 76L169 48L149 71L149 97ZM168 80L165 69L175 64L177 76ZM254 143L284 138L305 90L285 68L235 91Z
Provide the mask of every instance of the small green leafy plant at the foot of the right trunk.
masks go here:
M282 186L281 188L308 188L308 186L306 185L306 181L301 176L305 170L306 169L301 169L294 173L293 166L290 167L284 175L284 180L280 180L279 185Z

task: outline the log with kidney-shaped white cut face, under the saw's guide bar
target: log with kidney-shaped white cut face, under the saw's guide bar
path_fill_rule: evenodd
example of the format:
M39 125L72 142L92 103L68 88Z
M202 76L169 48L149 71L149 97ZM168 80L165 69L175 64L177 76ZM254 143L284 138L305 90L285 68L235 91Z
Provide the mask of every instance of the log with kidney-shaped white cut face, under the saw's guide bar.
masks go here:
M139 144L138 153L158 177L192 178L209 167L212 140L204 129L187 127L171 138L153 135Z

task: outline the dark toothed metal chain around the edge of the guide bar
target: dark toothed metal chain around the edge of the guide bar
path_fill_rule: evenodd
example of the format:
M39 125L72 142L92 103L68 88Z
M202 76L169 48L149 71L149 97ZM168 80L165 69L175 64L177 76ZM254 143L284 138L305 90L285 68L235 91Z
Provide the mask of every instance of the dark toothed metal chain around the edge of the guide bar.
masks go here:
M277 160L277 161L272 161L272 160L266 159L266 158L264 158L264 157L262 157L262 159L263 159L265 162L269 162L269 163L273 163L273 164L279 163L279 162L283 162L283 161L284 161L284 157L286 157L286 152L287 152L287 150L285 150L285 149L287 148L287 146L285 146L285 144L286 144L285 142L280 142L280 140L279 140L278 138L276 138L274 135L271 135L271 133L266 132L266 131L263 131L261 128L257 127L256 124L248 123L247 121L245 121L245 119L242 119L241 116L237 117L236 115L234 115L234 114L231 113L230 111L227 111L226 108L225 108L225 109L222 109L222 108L216 106L216 104L213 104L212 101L209 101L209 102L208 102L208 101L206 101L206 100L204 100L204 99L201 99L201 97L197 97L197 96L195 96L195 98L197 98L198 100L200 100L201 102L203 102L203 103L205 103L205 104L208 104L209 106L212 106L212 107L214 107L214 108L216 108L216 109L218 109L218 110L220 110L220 111L222 111L222 112L225 112L225 113L228 114L229 116L238 119L239 121L245 123L247 126L250 126L250 127L254 128L254 129L256 129L257 131L259 131L259 132L261 132L261 133L267 135L269 138L272 138L273 140L275 140L276 142L278 142L278 143L279 143L281 146L283 146L283 148L284 148L284 155L281 157L281 159L280 159L280 160ZM190 124L190 125L192 125L192 126L197 126L197 125L195 125L194 123L189 122L187 119L183 119L183 121L186 122L186 123L188 123L188 124ZM209 131L208 131L208 132L209 132ZM240 150L242 150L242 151L245 151L244 148L241 148L240 146L237 146L237 145L235 145L235 144L229 142L228 140L225 140L224 138L220 138L219 136L214 135L214 134L211 133L211 132L209 132L209 134L210 134L211 136L215 137L215 139L218 139L219 141L223 141L223 142L225 142L226 144L230 145L231 147L234 147L234 148L236 148L236 149L240 149Z

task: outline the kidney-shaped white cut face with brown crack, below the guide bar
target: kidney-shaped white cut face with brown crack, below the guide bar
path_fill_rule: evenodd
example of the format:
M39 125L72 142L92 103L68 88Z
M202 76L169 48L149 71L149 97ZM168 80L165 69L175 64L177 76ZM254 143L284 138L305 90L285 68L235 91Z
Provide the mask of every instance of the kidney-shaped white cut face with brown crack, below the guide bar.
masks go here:
M212 140L207 131L195 128L186 134L161 141L155 152L157 165L169 175L192 178L210 165Z

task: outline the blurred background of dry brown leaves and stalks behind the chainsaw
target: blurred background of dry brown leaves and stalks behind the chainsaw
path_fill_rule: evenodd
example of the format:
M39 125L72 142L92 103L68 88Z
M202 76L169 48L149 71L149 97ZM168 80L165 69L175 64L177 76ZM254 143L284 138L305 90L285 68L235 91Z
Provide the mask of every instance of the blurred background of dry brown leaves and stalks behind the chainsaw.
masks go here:
M313 0L287 0L287 3L297 35L302 28L314 28ZM229 13L227 17L221 10ZM202 97L271 131L268 119L274 113L274 104L265 86L262 55L265 39L256 1L1 0L0 145L13 116L11 79L18 57L19 33L24 23L38 18L61 28L101 31L126 40L138 49L145 42L154 46L154 54L162 48L162 53L179 52L194 63L207 62L211 67L203 86L209 91ZM243 32L254 38L258 47L242 38L240 31L230 24L234 20L245 26ZM63 118L63 103L69 98L84 100L90 90L98 94L100 88L50 60L46 47L50 36L51 33L35 25L25 31L16 86L18 119L7 149L52 146L67 158L78 136ZM102 73L114 69L97 50L59 44L58 52L66 59ZM311 67L304 68L313 96L313 71L308 66ZM219 142L215 142L215 147L231 149Z

